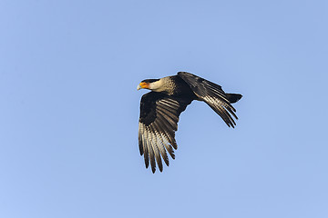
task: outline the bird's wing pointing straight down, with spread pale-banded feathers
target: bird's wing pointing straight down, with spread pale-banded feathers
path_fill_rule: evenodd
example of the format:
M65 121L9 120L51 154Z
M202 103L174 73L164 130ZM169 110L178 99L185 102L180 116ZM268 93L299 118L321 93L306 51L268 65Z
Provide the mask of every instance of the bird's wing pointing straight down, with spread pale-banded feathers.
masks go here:
M191 99L179 99L167 94L150 92L142 95L138 124L138 145L144 155L146 168L155 173L156 163L162 172L164 162L169 166L169 155L174 159L174 150L178 145L175 131L178 130L179 114L183 112ZM156 162L155 162L156 161Z

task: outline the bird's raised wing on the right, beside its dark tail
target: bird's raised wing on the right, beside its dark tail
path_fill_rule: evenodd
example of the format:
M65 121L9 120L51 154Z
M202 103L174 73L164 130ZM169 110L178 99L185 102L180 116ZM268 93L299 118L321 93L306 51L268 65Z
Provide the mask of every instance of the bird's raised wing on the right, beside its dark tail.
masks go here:
M234 127L236 123L232 116L236 120L238 119L235 114L236 109L233 108L228 100L229 96L223 92L219 84L213 84L200 76L187 72L179 72L178 75L190 85L191 90L200 98L200 100L204 101L211 109L220 115L229 127Z

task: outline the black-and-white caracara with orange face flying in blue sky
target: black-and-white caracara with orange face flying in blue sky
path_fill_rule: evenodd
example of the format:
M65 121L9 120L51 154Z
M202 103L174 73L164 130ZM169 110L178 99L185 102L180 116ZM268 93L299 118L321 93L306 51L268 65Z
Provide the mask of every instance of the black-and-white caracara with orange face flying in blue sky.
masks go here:
M149 89L140 101L138 123L138 146L144 155L146 168L151 165L152 173L163 171L163 161L169 166L169 155L175 159L174 149L178 148L175 132L178 130L179 114L193 100L205 102L223 121L234 127L238 119L231 105L241 99L241 94L226 94L219 84L195 74L179 72L161 79L146 79L138 84L139 89ZM173 148L172 148L173 147Z

